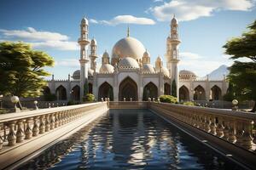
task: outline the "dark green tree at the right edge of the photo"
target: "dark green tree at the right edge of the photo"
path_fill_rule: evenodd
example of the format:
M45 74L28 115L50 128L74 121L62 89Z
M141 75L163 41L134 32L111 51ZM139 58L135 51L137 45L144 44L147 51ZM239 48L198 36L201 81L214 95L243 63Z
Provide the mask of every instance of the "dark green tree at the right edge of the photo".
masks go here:
M253 112L256 111L256 20L248 26L241 37L232 38L224 45L225 54L235 60L230 66L228 76L233 84L235 97L240 100L253 100ZM241 61L246 58L246 61Z

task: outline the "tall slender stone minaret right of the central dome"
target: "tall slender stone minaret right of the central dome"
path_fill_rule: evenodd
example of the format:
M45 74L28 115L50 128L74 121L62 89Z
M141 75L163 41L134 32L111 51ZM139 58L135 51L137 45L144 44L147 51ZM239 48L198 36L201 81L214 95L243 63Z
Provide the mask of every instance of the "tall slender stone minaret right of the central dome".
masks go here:
M170 71L171 84L173 80L175 80L176 87L178 82L177 63L179 61L178 44L180 43L178 39L177 28L178 28L177 19L175 18L175 15L174 15L171 21L171 32L169 37L167 37L167 41L166 41L166 61L167 61L166 64L167 64L167 69ZM176 92L177 92L176 94L177 96L178 95L177 89L176 89Z

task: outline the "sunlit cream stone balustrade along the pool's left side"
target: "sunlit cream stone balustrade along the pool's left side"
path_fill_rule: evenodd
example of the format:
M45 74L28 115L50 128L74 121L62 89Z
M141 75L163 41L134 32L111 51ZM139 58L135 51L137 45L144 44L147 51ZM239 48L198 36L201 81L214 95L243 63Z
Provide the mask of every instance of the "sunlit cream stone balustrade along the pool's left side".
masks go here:
M102 106L107 107L107 102L0 115L0 155L16 144L54 131Z

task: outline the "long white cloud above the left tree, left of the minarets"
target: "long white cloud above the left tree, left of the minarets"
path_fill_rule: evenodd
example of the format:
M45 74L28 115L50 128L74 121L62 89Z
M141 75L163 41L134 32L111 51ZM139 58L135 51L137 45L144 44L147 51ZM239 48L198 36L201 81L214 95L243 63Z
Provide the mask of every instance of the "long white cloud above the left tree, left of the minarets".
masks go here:
M0 29L6 40L24 41L32 44L34 48L50 48L58 50L77 50L77 42L68 41L66 35L58 32L37 31L32 27L26 30L4 30Z

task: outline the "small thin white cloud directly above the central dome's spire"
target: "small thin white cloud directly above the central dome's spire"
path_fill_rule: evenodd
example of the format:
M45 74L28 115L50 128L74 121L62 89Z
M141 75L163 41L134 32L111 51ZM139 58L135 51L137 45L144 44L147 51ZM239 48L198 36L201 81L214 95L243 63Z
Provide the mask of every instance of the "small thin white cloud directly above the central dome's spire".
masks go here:
M90 19L94 24L105 24L109 26L116 26L119 24L137 24L137 25L154 25L154 20L148 18L138 18L132 15L118 15L112 20L94 20Z

